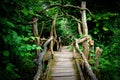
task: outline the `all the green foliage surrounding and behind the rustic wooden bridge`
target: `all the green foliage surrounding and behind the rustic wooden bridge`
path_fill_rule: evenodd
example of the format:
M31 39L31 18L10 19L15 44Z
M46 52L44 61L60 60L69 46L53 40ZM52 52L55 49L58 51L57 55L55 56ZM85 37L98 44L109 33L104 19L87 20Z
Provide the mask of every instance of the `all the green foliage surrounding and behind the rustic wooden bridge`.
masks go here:
M63 0L64 4L81 6L82 0ZM38 26L41 29L41 22L45 21L42 36L49 37L51 21L55 13L63 15L62 8L52 8L44 15L41 11L52 4L60 4L61 0L3 0L0 1L0 80L32 80L35 74L33 63L34 50L42 48L29 42L36 40L33 37L32 26L26 25L32 21L33 16L39 17ZM100 58L101 80L120 80L120 4L119 1L110 0L109 3L98 0L98 2L87 1L87 8L94 13L94 17L87 14L89 34L95 40L95 46L100 46L103 53ZM108 5L106 5L108 4ZM109 8L110 7L110 8ZM74 15L78 19L81 17L79 10L63 8L64 12ZM46 16L45 16L46 15ZM68 45L79 36L77 23L70 17L60 17L56 22L57 35L63 40L64 45ZM81 46L80 46L81 48ZM82 48L81 48L82 49ZM91 51L94 64L95 55ZM7 75L7 77L6 77Z

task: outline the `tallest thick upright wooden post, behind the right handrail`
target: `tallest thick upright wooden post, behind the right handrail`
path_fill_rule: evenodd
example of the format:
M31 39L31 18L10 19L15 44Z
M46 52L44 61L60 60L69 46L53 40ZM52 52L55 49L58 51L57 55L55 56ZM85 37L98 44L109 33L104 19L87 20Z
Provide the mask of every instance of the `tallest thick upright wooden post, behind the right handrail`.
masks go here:
M84 36L88 36L88 27L87 27L87 21L86 21L86 2L82 1L81 3L81 8L82 10L82 27L83 27L83 35ZM83 53L85 54L85 57L88 59L88 55L89 55L89 49L88 49L88 42L85 41L83 42Z

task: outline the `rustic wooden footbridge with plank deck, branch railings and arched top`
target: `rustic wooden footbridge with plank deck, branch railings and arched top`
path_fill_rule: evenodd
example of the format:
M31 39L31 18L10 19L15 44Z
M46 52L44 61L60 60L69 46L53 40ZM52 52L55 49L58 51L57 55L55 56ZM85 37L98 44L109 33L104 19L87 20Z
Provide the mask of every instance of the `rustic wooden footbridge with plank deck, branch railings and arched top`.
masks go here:
M80 10L82 21L77 19L75 16L66 15L77 22L78 35L80 37L74 39L74 41L70 43L71 50L67 49L67 46L62 47L62 40L57 36L55 27L58 17L58 13L56 13L54 19L52 19L50 37L49 39L43 39L41 38L41 35L44 23L40 34L38 34L38 17L34 17L32 24L35 44L39 47L44 43L42 51L39 49L36 50L37 57L34 62L37 64L37 72L34 76L34 80L98 80L96 77L98 71L92 70L90 60L96 59L92 66L95 66L97 69L102 50L99 47L96 47L96 50L94 49L94 40L92 40L92 37L88 35L86 11L89 13L90 11L86 8L86 2L83 1L81 3L81 8L79 6L65 5L61 5L60 7L72 7ZM54 47L57 48L57 51L54 51ZM59 49L61 51L58 51ZM91 57L91 54L95 55L95 57ZM44 60L46 55L49 56L49 59Z

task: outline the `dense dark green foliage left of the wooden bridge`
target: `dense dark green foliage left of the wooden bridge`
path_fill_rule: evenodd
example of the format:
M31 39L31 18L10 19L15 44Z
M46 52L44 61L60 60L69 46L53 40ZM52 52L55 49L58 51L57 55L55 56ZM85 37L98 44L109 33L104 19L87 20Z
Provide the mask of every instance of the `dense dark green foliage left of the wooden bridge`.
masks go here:
M39 8L42 4L39 0L3 0L0 4L0 80L30 80L35 73L33 53L41 47L29 42L36 38L32 37L32 26L25 24L43 9Z

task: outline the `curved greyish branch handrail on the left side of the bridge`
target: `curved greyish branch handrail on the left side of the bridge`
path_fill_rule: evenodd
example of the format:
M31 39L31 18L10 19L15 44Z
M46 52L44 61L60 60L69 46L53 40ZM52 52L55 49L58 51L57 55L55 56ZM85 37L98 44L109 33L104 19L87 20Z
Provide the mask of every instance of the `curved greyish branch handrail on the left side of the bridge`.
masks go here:
M42 61L43 61L43 56L45 55L45 53L47 52L47 45L53 40L53 36L50 37L43 45L43 51L39 54L39 57L38 57L38 69L37 69L37 73L36 75L34 76L34 80L39 80L40 79L40 76L42 74Z

